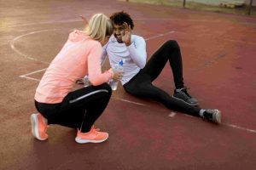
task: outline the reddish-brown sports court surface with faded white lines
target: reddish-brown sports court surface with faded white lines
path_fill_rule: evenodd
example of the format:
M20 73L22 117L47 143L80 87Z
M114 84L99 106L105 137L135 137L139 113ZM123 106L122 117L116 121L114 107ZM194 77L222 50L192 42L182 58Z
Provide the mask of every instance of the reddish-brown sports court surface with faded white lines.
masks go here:
M0 3L1 170L256 169L256 18L104 0ZM96 122L108 141L77 144L76 131L60 126L49 127L47 141L33 139L35 89L68 33L83 29L79 15L119 10L147 40L148 58L177 40L189 93L202 108L221 110L223 122L167 110L119 87ZM154 83L172 94L169 65Z

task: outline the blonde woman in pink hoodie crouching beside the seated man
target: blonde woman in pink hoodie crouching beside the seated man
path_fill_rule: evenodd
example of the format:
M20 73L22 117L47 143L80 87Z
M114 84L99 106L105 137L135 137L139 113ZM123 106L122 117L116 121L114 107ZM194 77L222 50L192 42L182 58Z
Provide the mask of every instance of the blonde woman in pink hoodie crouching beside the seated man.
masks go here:
M70 33L67 42L44 73L35 94L39 113L32 114L32 135L48 139L49 124L78 129L76 142L101 143L108 133L93 126L108 105L112 90L109 79L119 77L112 69L102 73L102 46L113 33L111 20L104 14L95 14L84 31ZM92 86L71 92L73 84L89 76Z

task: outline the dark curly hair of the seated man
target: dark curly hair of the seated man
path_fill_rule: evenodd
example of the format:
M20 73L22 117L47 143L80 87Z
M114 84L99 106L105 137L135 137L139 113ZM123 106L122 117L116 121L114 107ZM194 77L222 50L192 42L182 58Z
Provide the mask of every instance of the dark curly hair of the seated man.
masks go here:
M131 26L131 30L134 27L134 24L133 24L133 21L131 20L130 14L127 14L124 11L113 13L110 16L110 20L112 20L113 24L115 24L115 25L123 25L126 22L128 24L128 26Z

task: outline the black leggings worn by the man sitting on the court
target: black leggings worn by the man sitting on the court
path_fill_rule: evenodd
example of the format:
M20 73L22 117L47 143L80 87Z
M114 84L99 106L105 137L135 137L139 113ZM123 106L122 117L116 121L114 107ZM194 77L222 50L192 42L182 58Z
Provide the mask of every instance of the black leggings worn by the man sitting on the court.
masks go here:
M199 116L200 108L174 99L170 94L152 84L154 79L160 75L168 60L172 68L175 87L183 88L183 61L180 48L176 41L170 40L165 42L152 55L145 67L135 77L125 83L125 91L138 97L154 99L169 109Z

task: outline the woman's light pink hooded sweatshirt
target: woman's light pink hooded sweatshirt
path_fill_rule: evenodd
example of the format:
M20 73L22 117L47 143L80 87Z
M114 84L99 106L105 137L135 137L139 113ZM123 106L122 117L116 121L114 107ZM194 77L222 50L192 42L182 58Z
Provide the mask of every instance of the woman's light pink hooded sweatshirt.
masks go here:
M44 72L35 99L41 103L61 103L71 91L73 84L84 75L89 75L92 85L100 85L113 78L113 71L102 73L102 45L100 42L75 30Z

